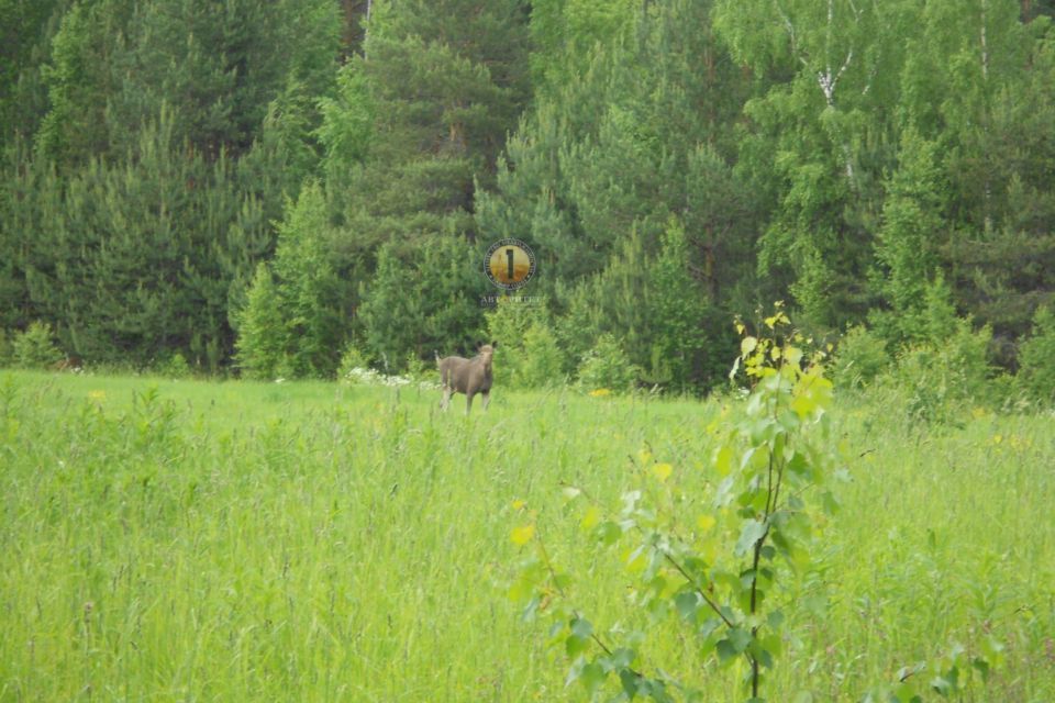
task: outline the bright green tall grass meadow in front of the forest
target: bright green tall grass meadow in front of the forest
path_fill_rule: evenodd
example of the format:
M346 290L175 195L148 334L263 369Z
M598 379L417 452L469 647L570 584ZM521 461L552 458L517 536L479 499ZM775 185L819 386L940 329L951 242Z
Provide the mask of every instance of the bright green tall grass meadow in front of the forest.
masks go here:
M507 598L514 501L579 577L576 605L635 626L630 577L562 486L615 505L647 444L691 521L722 409L496 389L465 417L462 397L437 401L0 371L0 701L584 700ZM842 400L835 420L853 480L817 571L784 594L767 700L858 701L992 635L1002 661L959 700L1055 701L1055 417L929 428ZM713 701L748 698L678 627L642 652Z

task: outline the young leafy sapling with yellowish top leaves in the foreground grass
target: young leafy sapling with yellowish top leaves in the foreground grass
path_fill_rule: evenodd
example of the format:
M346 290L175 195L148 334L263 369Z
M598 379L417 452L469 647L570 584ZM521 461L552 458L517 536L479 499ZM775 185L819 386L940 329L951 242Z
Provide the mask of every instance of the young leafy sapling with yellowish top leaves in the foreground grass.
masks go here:
M737 366L744 365L753 388L737 417L723 423L728 429L720 432L711 465L718 481L712 507L695 527L664 514L673 502L654 505L646 498L654 493L649 484L668 487L675 471L648 450L636 465L637 480L647 483L624 493L622 509L610 518L588 492L565 490L591 503L581 526L597 551L617 544L625 549L638 583L634 607L653 627L668 621L684 625L702 657L723 666L744 660L752 701L762 700L763 677L777 666L789 638L785 610L795 604L781 598L785 581L808 570L813 526L836 504L830 483L837 456L826 415L832 387L822 356L806 359L801 337L782 334L788 319L779 309L765 323L775 338L743 338ZM660 494L671 498L670 489ZM564 644L573 662L568 682L580 681L591 698L608 685L631 699L703 700L700 681L675 680L662 662L649 665L655 671L644 668L638 650L644 633L604 632L566 602L571 577L556 570L535 525L515 528L512 538L533 542L536 554L513 594L529 599L530 615L545 603L553 639Z

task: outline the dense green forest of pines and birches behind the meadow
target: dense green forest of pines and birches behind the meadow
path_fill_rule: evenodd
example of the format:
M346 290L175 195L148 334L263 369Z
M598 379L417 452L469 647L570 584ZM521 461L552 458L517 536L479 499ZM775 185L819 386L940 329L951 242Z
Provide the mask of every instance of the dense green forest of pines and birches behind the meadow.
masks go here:
M263 378L501 332L538 373L701 391L733 316L786 300L818 338L974 335L1013 371L1055 330L1053 14L0 0L0 328ZM537 271L492 312L507 237Z

